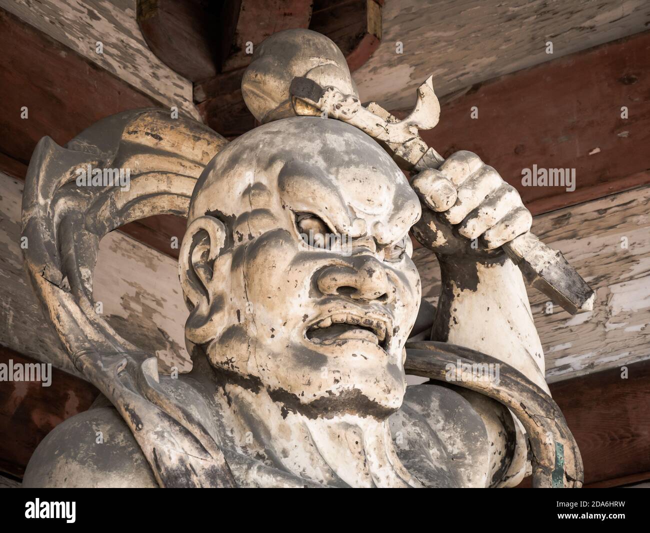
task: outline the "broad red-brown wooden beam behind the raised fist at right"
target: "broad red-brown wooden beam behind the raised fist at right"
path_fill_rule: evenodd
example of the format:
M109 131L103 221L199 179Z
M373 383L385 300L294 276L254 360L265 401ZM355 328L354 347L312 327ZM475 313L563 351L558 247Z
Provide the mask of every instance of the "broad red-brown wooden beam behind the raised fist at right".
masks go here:
M650 183L650 32L487 81L443 103L422 137L476 152L534 214ZM472 118L473 108L478 118ZM628 118L621 118L627 107ZM525 168L575 169L575 191L525 187Z

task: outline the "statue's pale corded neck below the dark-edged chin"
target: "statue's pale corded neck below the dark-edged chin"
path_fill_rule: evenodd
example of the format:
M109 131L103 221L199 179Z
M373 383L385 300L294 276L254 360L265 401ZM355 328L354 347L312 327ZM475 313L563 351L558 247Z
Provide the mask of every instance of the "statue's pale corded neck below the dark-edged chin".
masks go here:
M287 413L266 391L226 385L224 422L240 450L330 486L417 484L397 457L387 420L357 415L309 419Z

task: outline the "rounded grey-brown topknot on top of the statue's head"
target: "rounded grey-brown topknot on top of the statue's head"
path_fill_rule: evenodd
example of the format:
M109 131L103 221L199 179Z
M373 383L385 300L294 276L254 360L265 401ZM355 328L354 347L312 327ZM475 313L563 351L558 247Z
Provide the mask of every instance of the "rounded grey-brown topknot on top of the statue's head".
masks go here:
M257 47L242 78L246 107L259 122L295 116L289 94L294 77L358 98L345 57L330 38L307 29L280 31Z

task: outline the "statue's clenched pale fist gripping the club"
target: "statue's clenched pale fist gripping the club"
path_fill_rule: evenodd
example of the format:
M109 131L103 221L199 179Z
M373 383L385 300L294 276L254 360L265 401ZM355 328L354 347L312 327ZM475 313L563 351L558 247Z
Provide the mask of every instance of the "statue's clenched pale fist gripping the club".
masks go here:
M495 255L490 250L530 230L532 216L517 190L470 151L423 170L411 185L422 203L413 234L436 253Z

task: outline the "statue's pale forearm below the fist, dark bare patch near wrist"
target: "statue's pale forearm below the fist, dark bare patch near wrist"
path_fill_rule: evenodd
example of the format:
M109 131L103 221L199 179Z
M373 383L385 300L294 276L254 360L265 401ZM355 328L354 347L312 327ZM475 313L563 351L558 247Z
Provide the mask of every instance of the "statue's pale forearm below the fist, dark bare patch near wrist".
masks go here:
M510 259L439 255L433 336L497 357L547 389L544 356L521 272Z

